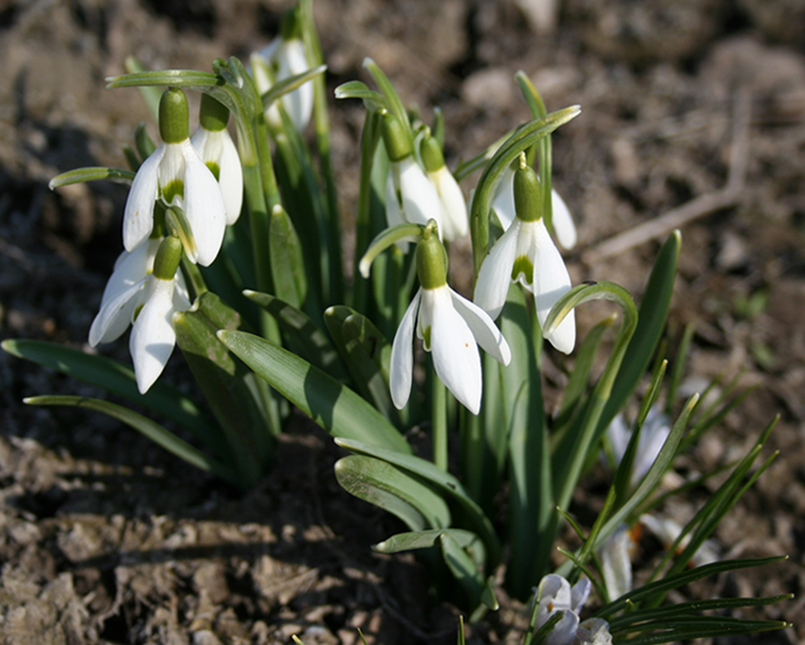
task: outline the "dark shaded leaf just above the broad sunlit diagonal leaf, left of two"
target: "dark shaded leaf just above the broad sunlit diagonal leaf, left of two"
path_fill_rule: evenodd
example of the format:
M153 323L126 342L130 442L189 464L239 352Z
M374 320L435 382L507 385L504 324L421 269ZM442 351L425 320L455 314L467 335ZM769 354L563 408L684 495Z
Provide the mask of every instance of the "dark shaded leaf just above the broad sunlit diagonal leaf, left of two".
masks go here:
M333 379L347 380L347 375L339 361L338 351L332 346L327 335L313 324L306 313L271 294L260 294L246 289L244 295L273 315L292 350L305 361L326 371Z

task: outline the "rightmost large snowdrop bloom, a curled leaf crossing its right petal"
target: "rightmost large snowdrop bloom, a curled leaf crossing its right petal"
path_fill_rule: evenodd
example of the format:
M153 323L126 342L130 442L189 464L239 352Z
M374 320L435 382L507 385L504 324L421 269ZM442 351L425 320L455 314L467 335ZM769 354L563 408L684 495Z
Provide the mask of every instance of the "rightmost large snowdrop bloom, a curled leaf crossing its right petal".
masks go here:
M497 318L506 302L509 284L520 282L534 294L542 334L559 351L569 354L576 344L576 319L571 311L551 333L545 321L551 307L570 291L570 274L541 217L539 178L526 165L525 155L514 175L515 217L512 225L484 258L475 283L474 302Z

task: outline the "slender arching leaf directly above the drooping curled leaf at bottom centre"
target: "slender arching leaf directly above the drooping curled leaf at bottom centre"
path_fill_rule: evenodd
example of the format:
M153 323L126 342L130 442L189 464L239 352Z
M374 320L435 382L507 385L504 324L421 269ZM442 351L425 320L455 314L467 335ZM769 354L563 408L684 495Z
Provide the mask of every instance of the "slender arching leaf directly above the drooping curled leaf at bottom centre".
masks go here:
M337 438L335 442L341 448L347 448L351 452L388 461L388 463L402 468L411 475L420 477L442 495L454 499L456 504L461 507L465 523L484 540L487 554L492 563L491 566L499 562L500 543L498 542L497 534L494 532L494 527L489 518L484 515L481 507L467 494L465 487L462 486L458 479L421 457L402 454L388 448L350 438Z

